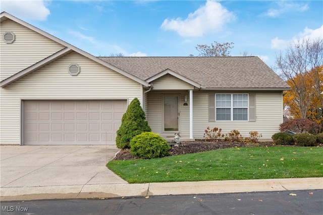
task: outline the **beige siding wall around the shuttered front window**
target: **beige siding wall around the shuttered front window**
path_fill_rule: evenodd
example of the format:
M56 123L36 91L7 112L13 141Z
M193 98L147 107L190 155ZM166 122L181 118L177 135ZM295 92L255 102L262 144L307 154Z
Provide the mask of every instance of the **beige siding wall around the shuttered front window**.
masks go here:
M208 92L211 93L211 92ZM207 126L222 128L226 134L238 129L243 136L249 136L249 131L258 131L262 139L271 139L279 132L279 124L283 122L282 92L256 93L256 121L208 121L208 93L194 92L193 94L193 136L203 138ZM213 92L215 94L215 92ZM223 93L223 92L220 92ZM227 92L237 93L237 92ZM243 92L245 93L245 92ZM246 92L248 93L248 92ZM250 92L251 93L251 92Z

